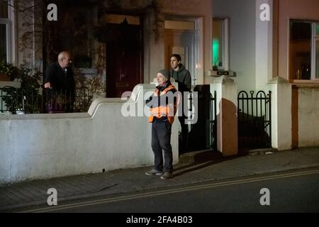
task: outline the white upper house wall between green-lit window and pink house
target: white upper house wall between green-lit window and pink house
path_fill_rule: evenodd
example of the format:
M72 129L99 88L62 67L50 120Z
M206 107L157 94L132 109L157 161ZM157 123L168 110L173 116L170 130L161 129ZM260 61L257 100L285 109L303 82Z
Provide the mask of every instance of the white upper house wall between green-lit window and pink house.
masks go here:
M230 18L230 70L237 72L238 90L254 90L256 0L213 0L213 17Z

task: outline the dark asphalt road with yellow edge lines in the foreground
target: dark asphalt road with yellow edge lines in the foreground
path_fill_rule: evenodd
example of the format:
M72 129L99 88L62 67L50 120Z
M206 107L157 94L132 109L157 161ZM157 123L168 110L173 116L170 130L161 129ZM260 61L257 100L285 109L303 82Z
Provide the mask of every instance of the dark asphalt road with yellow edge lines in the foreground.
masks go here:
M318 212L319 168L121 194L27 212ZM260 190L269 189L262 206Z

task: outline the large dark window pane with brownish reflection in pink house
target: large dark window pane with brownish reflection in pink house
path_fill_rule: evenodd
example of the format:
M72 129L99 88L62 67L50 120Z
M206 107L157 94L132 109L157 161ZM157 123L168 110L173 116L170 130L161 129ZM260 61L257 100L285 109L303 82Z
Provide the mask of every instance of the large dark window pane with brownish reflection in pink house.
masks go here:
M290 32L290 77L291 79L310 79L311 23L292 21Z

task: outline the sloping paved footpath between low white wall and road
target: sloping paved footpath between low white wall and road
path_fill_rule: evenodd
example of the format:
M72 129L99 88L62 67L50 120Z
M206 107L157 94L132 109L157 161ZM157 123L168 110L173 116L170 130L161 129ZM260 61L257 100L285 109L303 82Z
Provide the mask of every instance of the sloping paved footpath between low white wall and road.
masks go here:
M319 148L250 150L233 157L203 150L181 155L179 163L174 165L172 179L147 176L145 171L150 167L140 167L4 185L0 187L0 212L47 206L50 196L47 190L50 188L57 189L58 202L61 203L312 167L319 167Z

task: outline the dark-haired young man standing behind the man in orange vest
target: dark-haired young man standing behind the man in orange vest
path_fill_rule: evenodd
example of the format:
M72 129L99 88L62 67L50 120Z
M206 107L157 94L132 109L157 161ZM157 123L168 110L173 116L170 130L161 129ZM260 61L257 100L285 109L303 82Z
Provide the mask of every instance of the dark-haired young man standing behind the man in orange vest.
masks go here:
M170 75L178 83L178 90L181 92L181 104L183 113L179 116L179 122L181 123L181 144L179 144L179 150L181 152L186 152L188 149L188 137L189 137L189 128L185 123L187 116L184 113L184 99L187 99L184 92L191 92L191 73L189 70L186 70L184 65L181 64L181 55L173 54L170 57L171 60L171 70ZM180 114L179 114L180 115Z

